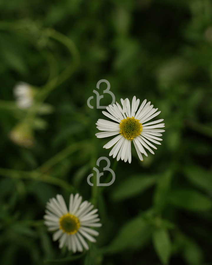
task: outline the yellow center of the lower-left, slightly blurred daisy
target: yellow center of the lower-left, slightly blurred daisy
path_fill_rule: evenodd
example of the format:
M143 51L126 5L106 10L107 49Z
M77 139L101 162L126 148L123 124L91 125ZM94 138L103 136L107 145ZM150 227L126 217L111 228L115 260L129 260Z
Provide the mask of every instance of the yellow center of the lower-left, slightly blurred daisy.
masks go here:
M79 219L73 214L66 213L59 218L59 229L62 229L64 233L68 235L73 235L77 233L80 228Z

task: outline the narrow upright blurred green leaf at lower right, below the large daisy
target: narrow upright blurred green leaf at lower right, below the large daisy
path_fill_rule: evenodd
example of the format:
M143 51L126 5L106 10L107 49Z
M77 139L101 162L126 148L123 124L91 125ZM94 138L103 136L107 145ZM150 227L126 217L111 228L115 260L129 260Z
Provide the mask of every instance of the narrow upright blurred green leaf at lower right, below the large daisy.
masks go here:
M153 198L155 210L160 213L166 206L168 200L168 193L170 190L170 184L173 172L171 170L166 171L161 175L158 185L155 189L155 194Z

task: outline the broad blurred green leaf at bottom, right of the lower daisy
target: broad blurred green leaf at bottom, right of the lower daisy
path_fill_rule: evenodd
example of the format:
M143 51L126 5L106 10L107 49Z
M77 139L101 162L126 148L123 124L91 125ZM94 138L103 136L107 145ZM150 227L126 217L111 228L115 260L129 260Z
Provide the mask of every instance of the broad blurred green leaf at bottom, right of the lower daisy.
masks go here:
M150 239L151 232L147 221L137 216L122 226L108 246L107 252L116 253L125 249L141 248Z

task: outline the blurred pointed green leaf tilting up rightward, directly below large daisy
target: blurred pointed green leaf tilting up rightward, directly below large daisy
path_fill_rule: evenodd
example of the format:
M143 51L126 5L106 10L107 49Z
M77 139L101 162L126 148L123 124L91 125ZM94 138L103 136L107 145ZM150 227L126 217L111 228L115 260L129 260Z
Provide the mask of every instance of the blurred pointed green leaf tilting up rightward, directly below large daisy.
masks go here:
M142 193L156 182L157 176L136 175L123 180L113 191L112 200L121 201Z

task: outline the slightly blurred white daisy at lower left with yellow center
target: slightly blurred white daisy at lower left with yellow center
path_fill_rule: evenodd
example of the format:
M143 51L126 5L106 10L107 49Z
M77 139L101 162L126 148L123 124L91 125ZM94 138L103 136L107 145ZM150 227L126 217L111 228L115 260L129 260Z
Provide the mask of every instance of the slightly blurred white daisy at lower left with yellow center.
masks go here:
M98 209L92 210L94 207L88 201L82 201L82 196L79 197L79 193L75 196L70 195L69 199L69 210L67 209L66 203L62 195L57 194L57 199L52 198L47 202L46 210L47 213L44 215L44 223L49 227L49 231L57 230L53 234L53 240L59 239L59 248L64 245L68 247L68 250L83 251L89 249L87 242L82 237L84 236L91 242L96 242L93 236L98 236L99 232L91 227L100 227L101 223L98 214L95 214ZM92 211L91 211L92 210Z

